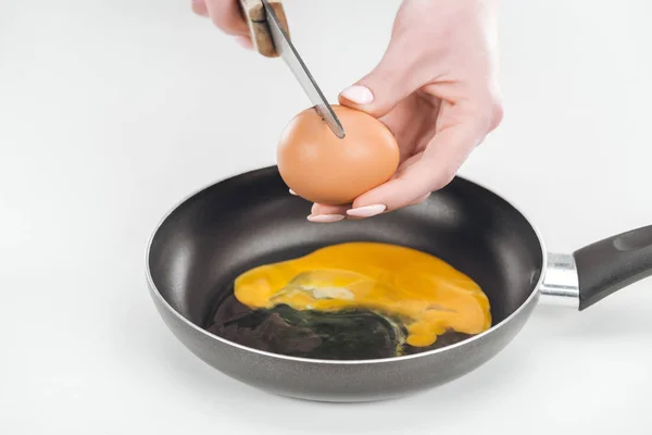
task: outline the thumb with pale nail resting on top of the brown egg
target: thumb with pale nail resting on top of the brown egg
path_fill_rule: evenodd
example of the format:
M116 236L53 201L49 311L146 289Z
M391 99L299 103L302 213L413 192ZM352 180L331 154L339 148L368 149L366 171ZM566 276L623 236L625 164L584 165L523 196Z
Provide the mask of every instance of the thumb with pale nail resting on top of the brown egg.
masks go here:
M396 45L385 52L376 67L339 95L339 103L374 117L383 117L421 87L410 74L412 62Z

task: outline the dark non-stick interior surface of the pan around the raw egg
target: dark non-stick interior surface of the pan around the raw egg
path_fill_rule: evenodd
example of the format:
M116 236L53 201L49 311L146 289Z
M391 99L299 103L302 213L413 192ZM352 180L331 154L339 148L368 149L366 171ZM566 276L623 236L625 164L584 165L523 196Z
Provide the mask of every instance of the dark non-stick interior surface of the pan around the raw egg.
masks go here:
M497 324L526 301L541 273L541 245L527 220L460 177L425 203L372 219L310 223L310 208L288 192L275 166L199 191L152 238L148 266L155 288L203 327L233 293L236 276L251 268L334 244L380 241L431 253L471 276L487 294Z

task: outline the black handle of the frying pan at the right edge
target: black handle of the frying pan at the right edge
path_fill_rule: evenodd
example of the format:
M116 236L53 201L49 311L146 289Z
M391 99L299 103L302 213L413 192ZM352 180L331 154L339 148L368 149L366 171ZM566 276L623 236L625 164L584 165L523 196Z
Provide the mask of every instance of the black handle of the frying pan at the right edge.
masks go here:
M597 241L573 253L579 278L579 310L652 276L652 225Z

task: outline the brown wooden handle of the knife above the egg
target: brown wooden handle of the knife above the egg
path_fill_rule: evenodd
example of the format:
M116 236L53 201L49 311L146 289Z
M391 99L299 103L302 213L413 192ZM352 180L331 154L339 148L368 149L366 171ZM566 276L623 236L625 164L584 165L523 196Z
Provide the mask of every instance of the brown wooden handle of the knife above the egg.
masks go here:
M280 21L283 29L289 38L288 22L283 9L283 0L267 0L274 13ZM240 0L242 15L249 25L253 48L266 58L277 58L278 53L274 48L274 40L267 25L267 13L261 0Z

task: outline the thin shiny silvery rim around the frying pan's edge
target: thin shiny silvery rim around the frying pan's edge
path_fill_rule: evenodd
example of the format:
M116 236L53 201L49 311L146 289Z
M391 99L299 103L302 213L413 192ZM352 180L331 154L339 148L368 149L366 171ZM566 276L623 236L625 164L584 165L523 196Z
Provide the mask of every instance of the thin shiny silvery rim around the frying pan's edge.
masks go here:
M406 356L400 356L400 357L390 357L390 358L379 358L379 359L374 359L374 360L325 360L325 359L312 359L312 358L303 358L303 357L291 357L291 356L287 356L287 355L281 355L281 353L273 353L273 352L268 352L265 350L259 350L259 349L254 349L254 348L250 348L230 340L227 340L226 338L223 338L216 334L213 334L202 327L200 327L199 325L195 324L193 322L189 321L188 319L186 319L186 316L184 316L181 313L179 313L174 307L172 307L172 304L163 297L163 295L161 294L161 291L159 290L159 288L156 287L156 285L154 284L154 279L151 275L151 270L150 270L150 256L151 256L151 247L152 244L154 241L154 238L156 237L156 234L159 233L159 229L161 228L161 226L163 225L163 223L165 223L165 221L172 215L172 213L174 213L176 210L178 210L184 203L186 203L188 200L190 200L191 198L196 197L197 195L201 194L204 190L208 190L209 188L220 184L220 183L224 183L228 179L233 179L239 176L246 176L246 175L250 175L250 174L255 174L255 173L261 173L261 172L265 172L265 171L272 171L275 170L277 166L276 165L268 165L268 166L264 166L264 167L259 167L259 169L253 169L253 170L249 170L249 171L244 171L241 173L237 173L235 175L230 175L230 176L226 176L223 178L220 178L217 181L213 181L212 183L209 183L206 185L203 185L202 187L193 190L192 192L186 195L181 200L177 201L159 221L159 223L154 226L154 229L151 232L148 243L147 243L147 248L146 248L146 252L145 252L145 270L146 270L146 279L147 279L147 284L149 289L151 290L151 294L155 296L155 298L163 304L163 307L165 307L165 309L167 309L168 312L171 312L175 318L177 318L181 323L186 324L187 326L189 326L191 330L197 331L198 333L204 335L206 338L212 339L212 340L217 340L221 341L224 345L227 346L233 346L235 348L241 349L246 352L251 352L251 353L255 353L255 355L260 355L262 357L267 357L267 358L274 358L274 359L279 359L279 360L285 360L285 361L291 361L291 362L299 362L299 363L309 363L309 364L328 364L328 365L360 365L360 364L381 364L381 363L393 363L393 362L400 362L400 361L405 361L405 360L410 360L410 359L414 359L414 358L427 358L429 356L432 355L437 355L437 353L443 353L446 351L450 351L453 350L455 348L462 347L462 346L468 346L472 343L479 340L481 338L484 338L487 335L490 335L492 333L494 333L496 331L500 330L501 327L503 327L504 325L506 325L507 323L510 323L511 320L515 319L516 316L518 316L518 314L525 309L525 307L527 307L532 299L535 299L535 297L538 296L539 294L539 288L541 287L541 284L546 277L546 271L548 270L548 251L546 248L546 244L543 241L543 238L541 237L541 233L539 232L539 229L532 224L532 222L527 217L527 215L521 211L521 209L518 209L517 207L515 207L511 201L509 201L507 199L505 199L502 195L498 195L497 192L494 192L492 189L487 188L486 186L484 186L480 183L475 182L473 178L467 177L467 176L460 176L460 175L455 175L455 178L475 184L476 186L487 190L488 192L499 197L501 200L503 200L504 202L506 202L510 207L512 207L514 210L516 210L522 216L523 219L527 222L527 224L530 226L530 228L532 229L532 232L535 233L535 236L537 237L537 240L539 241L539 247L541 248L541 273L539 274L539 278L537 281L537 283L532 286L531 293L530 295L525 299L525 301L516 309L514 310L514 312L512 312L510 315L507 315L505 319L503 319L502 321L500 321L499 323L497 323L496 325L492 325L491 327L489 327L487 331L484 331L477 335L474 335L471 338L467 338L465 340L455 343L453 345L450 346L446 346L439 349L432 349L432 350L428 350L425 352L421 352L421 353L414 353L414 355L406 355Z

